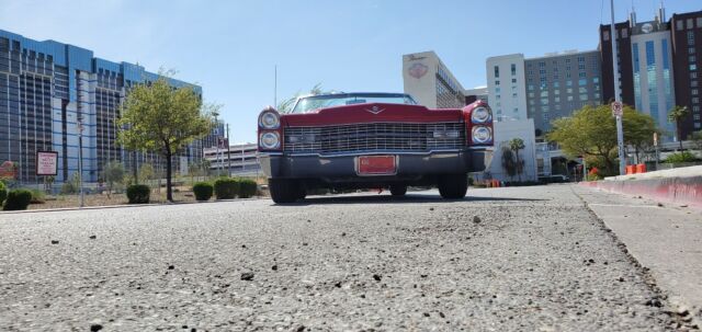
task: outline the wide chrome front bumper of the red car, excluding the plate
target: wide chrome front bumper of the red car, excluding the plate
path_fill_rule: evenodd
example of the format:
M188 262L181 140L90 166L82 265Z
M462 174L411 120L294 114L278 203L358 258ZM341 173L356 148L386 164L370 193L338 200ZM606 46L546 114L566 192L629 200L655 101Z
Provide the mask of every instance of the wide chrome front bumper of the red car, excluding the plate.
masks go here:
M397 156L394 175L361 176L356 173L359 156ZM318 179L328 183L363 181L377 178L419 179L426 175L480 172L492 159L491 148L433 151L426 153L354 153L343 156L260 153L261 169L268 178Z

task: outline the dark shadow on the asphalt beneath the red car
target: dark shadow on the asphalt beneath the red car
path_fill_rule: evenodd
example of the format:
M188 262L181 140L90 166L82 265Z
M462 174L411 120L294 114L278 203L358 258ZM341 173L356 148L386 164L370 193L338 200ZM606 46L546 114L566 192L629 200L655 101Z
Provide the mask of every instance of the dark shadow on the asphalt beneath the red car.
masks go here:
M539 202L547 199L512 198L512 197L479 197L466 196L463 199L443 199L439 194L410 193L403 197L394 197L387 194L367 195L339 195L339 196L313 196L303 202L279 204L279 206L306 206L325 204L416 204L416 203L453 203L453 202Z

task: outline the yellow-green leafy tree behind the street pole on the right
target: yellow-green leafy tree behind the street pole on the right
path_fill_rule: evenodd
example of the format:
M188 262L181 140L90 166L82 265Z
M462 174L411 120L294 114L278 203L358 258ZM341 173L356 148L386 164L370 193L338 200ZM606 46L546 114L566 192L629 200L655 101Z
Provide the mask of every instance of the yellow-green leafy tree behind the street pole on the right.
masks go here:
M624 144L641 145L646 139L653 139L656 128L650 116L625 106L622 122ZM636 125L641 123L646 125ZM568 157L595 157L601 160L604 174L618 173L616 122L609 105L586 105L571 117L555 119L552 126L553 130L548 133L547 139L558 142Z

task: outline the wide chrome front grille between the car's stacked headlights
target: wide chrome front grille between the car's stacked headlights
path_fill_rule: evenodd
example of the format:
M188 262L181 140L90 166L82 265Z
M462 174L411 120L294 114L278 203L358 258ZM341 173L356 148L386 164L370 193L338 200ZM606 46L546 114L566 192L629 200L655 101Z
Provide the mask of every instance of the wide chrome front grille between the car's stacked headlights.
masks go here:
M462 123L371 123L287 127L284 131L284 151L291 153L431 151L464 146Z

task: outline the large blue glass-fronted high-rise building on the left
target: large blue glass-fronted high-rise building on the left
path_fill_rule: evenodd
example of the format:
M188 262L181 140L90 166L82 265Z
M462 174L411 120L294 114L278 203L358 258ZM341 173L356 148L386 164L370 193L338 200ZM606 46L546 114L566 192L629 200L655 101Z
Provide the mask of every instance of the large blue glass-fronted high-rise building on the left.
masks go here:
M115 123L128 89L157 79L138 65L107 61L89 49L0 30L0 162L18 163L19 180L34 183L39 181L34 172L36 151L58 152L56 182L78 172L79 150L86 182L97 182L110 160L126 168L155 160L152 153L122 149ZM197 85L169 82L202 94ZM173 168L197 158L202 158L201 141L183 149Z

